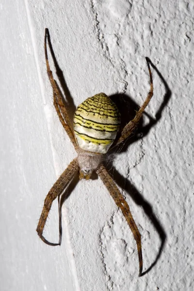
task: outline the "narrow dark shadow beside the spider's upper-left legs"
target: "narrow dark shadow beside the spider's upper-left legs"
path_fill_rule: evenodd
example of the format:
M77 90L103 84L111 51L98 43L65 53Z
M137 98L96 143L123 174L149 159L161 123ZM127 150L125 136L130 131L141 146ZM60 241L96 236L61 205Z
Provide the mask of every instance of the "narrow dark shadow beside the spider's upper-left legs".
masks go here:
M52 48L49 31L47 32L47 39L48 39L50 54L51 54L51 57L52 57L52 60L53 60L54 66L55 66L55 70L56 70L55 72L56 72L56 75L59 79L61 87L59 87L56 80L55 80L55 82L57 83L58 90L61 94L62 100L63 100L65 107L66 107L66 110L68 112L68 115L69 115L69 117L71 117L71 116L74 116L74 113L76 111L76 105L75 105L73 97L71 96L71 93L67 87L64 73L57 62L54 50ZM61 88L62 88L64 94L62 93Z

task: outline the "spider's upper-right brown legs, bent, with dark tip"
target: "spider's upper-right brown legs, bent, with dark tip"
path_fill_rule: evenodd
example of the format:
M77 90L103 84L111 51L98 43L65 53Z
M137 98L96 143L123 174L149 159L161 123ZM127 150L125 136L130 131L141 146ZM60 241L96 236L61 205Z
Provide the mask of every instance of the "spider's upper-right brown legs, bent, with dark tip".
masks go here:
M116 141L114 146L117 146L120 143L124 142L129 137L129 135L132 132L134 132L135 128L137 127L137 125L138 125L138 123L140 121L140 118L142 117L142 114L143 114L146 106L148 105L151 97L153 96L153 79L152 79L152 73L151 73L151 69L150 69L148 58L146 58L146 62L147 62L147 67L148 67L148 71L149 71L150 91L149 91L149 93L148 93L148 95L146 97L146 100L144 101L143 105L140 107L139 111L136 113L135 117L131 121L129 121L129 123L122 130L121 136Z

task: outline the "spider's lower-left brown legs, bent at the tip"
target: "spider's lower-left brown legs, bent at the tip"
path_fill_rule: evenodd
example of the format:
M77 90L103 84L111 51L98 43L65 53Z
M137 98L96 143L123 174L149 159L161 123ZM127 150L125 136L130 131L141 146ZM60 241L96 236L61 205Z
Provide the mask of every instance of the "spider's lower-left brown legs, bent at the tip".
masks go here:
M65 187L76 175L78 170L79 170L79 165L76 158L68 165L68 167L65 169L63 174L57 179L57 181L54 183L54 185L52 186L52 188L50 189L49 193L47 194L45 198L44 207L43 207L36 231L39 237L41 238L41 240L49 245L60 244L60 243L49 242L43 236L43 230L47 221L47 217L49 215L52 202L57 198L57 196L59 196L64 191Z

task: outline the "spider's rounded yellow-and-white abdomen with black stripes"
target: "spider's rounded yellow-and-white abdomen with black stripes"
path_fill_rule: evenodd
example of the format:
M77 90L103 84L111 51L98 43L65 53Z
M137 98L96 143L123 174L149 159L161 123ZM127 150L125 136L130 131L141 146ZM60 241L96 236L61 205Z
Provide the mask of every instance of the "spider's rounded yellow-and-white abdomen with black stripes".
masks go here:
M74 115L74 134L83 150L105 154L120 126L120 113L104 93L87 98Z

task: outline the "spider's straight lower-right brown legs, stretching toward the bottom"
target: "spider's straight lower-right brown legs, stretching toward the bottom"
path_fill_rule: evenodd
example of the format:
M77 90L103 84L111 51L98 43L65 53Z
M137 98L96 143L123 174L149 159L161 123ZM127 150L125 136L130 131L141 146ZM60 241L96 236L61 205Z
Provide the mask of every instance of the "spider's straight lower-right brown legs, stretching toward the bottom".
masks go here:
M141 243L141 234L135 224L135 221L132 217L132 214L129 209L128 203L125 201L123 195L120 193L118 187L113 181L113 178L109 175L106 168L103 165L100 165L97 170L97 175L101 178L104 185L106 186L107 190L111 194L116 203L117 207L120 208L123 215L125 216L130 229L133 233L134 239L137 242L137 251L138 251L138 258L139 258L139 276L142 275L143 269L143 258L142 258L142 243Z

